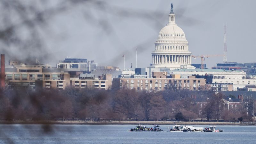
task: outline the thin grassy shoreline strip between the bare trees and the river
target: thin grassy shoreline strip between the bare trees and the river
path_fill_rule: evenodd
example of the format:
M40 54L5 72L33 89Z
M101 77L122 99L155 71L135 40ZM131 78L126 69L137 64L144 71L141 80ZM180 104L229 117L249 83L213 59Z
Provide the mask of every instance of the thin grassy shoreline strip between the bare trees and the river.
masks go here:
M0 124L159 124L159 125L256 125L256 122L174 122L174 121L0 121Z

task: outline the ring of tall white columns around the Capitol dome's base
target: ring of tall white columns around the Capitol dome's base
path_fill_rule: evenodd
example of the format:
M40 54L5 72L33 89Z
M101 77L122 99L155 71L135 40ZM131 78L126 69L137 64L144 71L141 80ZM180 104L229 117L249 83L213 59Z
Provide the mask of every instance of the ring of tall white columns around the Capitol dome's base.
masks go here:
M191 55L152 55L152 64L190 64Z

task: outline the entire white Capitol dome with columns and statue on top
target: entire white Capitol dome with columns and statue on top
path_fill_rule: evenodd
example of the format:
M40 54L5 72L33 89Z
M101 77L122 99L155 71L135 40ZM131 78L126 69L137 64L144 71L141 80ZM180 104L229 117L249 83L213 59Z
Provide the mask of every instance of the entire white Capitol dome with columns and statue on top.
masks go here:
M173 5L172 5L173 7ZM183 30L175 23L175 14L171 8L168 24L159 32L152 52L154 68L195 68L191 66L191 52Z

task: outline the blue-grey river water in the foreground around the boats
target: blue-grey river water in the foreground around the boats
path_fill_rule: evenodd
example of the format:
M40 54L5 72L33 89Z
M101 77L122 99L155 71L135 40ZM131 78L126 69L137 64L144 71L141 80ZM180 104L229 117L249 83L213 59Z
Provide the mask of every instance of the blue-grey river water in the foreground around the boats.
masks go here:
M173 125L160 126L165 132L127 131L135 125L76 124L55 124L45 132L39 124L0 124L0 143L256 143L256 126L217 126L224 132L166 132Z

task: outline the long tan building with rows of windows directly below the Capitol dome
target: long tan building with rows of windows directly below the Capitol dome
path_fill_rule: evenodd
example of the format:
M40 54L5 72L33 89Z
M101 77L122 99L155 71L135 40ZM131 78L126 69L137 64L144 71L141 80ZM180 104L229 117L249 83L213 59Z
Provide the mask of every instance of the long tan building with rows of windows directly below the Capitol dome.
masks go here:
M196 91L205 87L206 84L206 79L197 79L195 76L180 78L179 75L173 75L174 78L167 78L167 76L164 77L163 72L156 72L154 73L154 76L156 76L156 78L114 78L113 86L152 92L162 91L165 87L170 85L173 85L178 89L180 88Z

